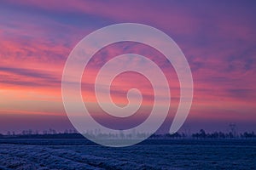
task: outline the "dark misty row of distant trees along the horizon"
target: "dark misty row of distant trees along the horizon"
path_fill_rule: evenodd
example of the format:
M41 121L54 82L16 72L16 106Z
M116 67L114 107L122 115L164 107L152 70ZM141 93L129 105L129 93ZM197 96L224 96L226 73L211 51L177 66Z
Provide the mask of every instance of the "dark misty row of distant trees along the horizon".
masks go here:
M97 138L108 138L108 139L132 139L135 138L144 138L148 136L147 133L131 133L131 134L124 134L120 132L119 134L105 134L101 133L98 130L95 132L91 131L87 133L90 137L97 137ZM83 135L78 133L76 130L67 129L62 133L57 133L54 129L49 128L49 130L44 130L42 133L39 133L37 130L32 131L23 130L21 133L15 132L7 132L5 135L0 133L0 139L3 138L12 138L12 139L83 139ZM166 134L152 134L149 139L256 139L256 134L254 132L245 132L245 133L223 133L223 132L213 132L207 133L204 129L201 129L198 133L192 133L191 135L187 135L186 133L166 133Z

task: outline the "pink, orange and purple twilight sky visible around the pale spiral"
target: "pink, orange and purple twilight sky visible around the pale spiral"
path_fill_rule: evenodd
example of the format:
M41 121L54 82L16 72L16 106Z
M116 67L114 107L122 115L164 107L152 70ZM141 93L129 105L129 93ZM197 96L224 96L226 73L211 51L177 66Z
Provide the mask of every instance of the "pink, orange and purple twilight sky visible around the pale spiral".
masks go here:
M256 131L253 1L0 0L0 4L0 133L73 128L61 99L61 77L68 55L92 31L127 22L164 31L186 56L194 80L194 99L182 130L227 132L229 124L236 123L238 131ZM102 48L84 71L84 105L104 122L93 82L104 63L127 53L154 60L168 79L172 104L161 127L166 132L179 101L177 74L162 54L145 44L119 42ZM129 62L150 69L142 60ZM142 75L122 73L111 87L113 102L127 105L130 88L143 94L142 109L130 120L136 125L147 118L154 93Z

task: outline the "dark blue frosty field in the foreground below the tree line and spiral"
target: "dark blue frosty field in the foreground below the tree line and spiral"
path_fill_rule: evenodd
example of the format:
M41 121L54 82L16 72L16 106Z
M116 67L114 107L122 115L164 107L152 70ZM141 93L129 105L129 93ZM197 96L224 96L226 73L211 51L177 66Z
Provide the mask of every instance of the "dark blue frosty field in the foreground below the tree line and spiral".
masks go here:
M85 139L0 139L0 169L256 169L256 140L148 140L125 148Z

